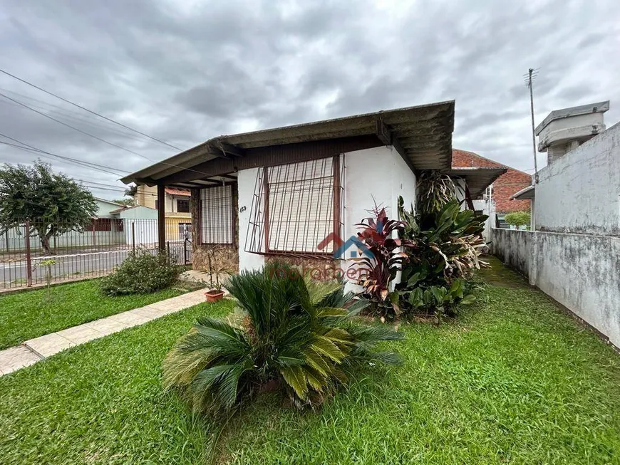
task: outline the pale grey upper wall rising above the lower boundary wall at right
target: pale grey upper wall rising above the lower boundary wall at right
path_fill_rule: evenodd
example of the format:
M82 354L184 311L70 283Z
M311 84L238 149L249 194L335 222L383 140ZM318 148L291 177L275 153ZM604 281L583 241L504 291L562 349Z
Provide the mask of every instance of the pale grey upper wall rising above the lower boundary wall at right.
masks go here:
M540 231L620 236L620 123L539 171Z

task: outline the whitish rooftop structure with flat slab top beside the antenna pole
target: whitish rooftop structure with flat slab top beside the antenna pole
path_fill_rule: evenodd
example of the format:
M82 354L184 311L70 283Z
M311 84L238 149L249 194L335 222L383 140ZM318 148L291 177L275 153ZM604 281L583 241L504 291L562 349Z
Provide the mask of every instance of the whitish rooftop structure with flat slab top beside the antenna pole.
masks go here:
M554 110L536 127L538 151L547 152L547 164L605 130L603 113L609 100Z

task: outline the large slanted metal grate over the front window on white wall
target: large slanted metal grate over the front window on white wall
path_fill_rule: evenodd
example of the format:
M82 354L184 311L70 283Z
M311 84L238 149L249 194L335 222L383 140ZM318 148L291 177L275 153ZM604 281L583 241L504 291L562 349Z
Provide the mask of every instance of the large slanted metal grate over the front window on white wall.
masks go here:
M245 251L332 256L343 224L342 166L337 156L259 169Z

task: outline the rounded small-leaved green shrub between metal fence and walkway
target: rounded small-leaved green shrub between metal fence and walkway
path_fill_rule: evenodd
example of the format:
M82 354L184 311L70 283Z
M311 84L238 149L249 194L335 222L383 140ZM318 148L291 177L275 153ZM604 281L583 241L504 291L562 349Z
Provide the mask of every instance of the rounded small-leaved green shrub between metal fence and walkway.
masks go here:
M175 283L180 273L180 267L165 252L139 249L101 280L101 291L108 296L160 291Z

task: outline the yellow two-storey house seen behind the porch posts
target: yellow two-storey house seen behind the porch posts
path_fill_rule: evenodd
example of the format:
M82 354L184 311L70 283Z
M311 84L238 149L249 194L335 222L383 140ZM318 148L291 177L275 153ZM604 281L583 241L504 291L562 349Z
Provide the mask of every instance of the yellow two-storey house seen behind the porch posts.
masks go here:
M138 185L135 194L135 204L140 207L148 207L158 210L160 200L157 199L157 187L149 187L145 184ZM166 187L164 205L166 218L166 239L168 241L180 241L185 233L192 231L192 214L190 213L190 191Z

